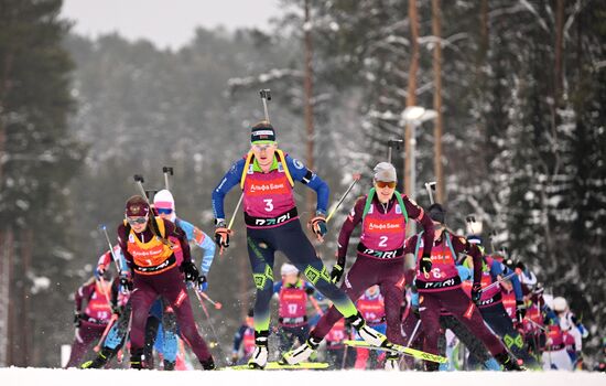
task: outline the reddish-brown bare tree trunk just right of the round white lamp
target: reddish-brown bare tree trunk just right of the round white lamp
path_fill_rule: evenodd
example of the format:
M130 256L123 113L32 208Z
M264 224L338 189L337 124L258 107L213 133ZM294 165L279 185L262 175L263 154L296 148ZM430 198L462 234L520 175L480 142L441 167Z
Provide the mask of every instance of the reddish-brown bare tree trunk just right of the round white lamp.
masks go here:
M439 203L444 203L445 199L445 181L444 169L442 164L442 132L444 130L444 120L442 116L442 11L440 0L432 0L432 34L436 39L433 49L433 109L437 112L435 118L435 127L433 129L434 140L434 173L437 182L436 200Z

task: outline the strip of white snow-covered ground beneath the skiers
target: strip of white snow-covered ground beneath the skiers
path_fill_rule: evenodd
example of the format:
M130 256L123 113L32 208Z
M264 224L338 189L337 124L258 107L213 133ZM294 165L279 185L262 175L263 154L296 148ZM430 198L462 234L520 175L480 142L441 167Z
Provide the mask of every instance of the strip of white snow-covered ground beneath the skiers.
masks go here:
M134 385L134 386L593 386L606 385L604 373L388 373L361 371L218 371L158 372L132 369L0 368L2 386Z

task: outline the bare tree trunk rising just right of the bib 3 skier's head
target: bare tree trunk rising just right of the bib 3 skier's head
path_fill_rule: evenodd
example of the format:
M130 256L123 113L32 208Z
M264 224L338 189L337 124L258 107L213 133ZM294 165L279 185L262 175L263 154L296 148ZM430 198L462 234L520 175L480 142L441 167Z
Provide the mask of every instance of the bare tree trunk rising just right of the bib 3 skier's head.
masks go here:
M312 29L310 17L310 0L305 0L305 23L303 24L305 34L305 128L307 130L307 168L314 170L314 107L313 107L313 68L312 68ZM306 207L310 213L315 213L315 196L314 192L306 190Z

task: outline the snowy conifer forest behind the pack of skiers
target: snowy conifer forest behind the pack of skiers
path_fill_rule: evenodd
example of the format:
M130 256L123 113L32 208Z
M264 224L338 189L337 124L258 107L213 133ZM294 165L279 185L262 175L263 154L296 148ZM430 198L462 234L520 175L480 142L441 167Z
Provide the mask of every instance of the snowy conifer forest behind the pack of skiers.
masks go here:
M61 0L0 0L0 366L59 364L59 345L74 334L73 292L107 247L98 226L121 221L134 173L162 187L162 167L174 167L178 215L213 233L210 192L248 149L248 128L262 118L260 88L272 90L282 148L306 160L306 31L314 169L333 200L351 173L365 176L318 248L326 264L387 140L404 136L402 110L433 108L441 43L447 222L464 229L473 213L485 239L495 230L548 292L569 299L595 352L606 326L606 2L413 1L418 39L409 1L309 3L311 22L303 0L284 1L272 33L198 29L171 51L75 35ZM423 182L435 179L433 127L418 128L414 199L424 206ZM394 156L403 171L403 152ZM306 193L297 194L304 208ZM228 212L237 199L230 194ZM226 351L253 288L241 215L235 229L209 275L208 293L224 303L213 322Z

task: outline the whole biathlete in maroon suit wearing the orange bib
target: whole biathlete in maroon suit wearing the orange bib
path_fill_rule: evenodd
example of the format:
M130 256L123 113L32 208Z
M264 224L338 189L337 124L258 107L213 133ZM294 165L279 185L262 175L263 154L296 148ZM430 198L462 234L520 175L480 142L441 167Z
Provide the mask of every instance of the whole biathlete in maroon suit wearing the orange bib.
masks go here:
M151 305L162 297L174 310L181 335L190 343L203 368L215 368L206 342L196 329L183 280L185 274L185 280L199 281L185 234L172 222L154 217L145 200L136 195L127 202L126 219L118 227L118 242L132 272L131 367L145 367L145 322ZM181 267L175 254L183 256Z

